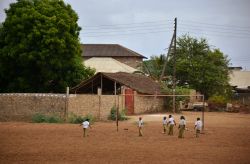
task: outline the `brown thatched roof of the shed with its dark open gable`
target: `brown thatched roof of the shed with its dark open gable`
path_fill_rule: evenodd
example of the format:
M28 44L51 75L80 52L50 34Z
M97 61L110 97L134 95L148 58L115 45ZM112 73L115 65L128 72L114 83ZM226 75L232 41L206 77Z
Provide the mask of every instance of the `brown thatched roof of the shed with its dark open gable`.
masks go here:
M142 74L125 72L99 72L88 80L81 82L71 89L71 93L97 94L100 89L103 95L122 94L122 88L132 89L139 94L160 94L160 84Z

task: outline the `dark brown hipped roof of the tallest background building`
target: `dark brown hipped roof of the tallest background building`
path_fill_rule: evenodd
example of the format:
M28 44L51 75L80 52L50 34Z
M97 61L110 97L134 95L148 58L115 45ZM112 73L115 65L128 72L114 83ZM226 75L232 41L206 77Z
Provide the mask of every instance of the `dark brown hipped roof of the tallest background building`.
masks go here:
M119 44L81 44L83 57L139 57L145 56Z

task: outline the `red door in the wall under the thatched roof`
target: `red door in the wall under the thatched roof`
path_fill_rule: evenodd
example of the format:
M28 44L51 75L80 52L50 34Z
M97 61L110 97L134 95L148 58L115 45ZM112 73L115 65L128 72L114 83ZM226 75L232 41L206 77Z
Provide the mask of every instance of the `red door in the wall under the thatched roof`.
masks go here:
M130 88L125 89L125 108L127 114L134 114L134 91Z

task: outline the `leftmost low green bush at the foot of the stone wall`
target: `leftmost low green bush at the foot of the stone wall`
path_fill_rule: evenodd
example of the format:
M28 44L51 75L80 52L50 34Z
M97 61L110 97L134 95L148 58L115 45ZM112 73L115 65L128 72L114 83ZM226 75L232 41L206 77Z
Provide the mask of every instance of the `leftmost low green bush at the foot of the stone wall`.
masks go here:
M32 122L35 123L61 123L62 118L56 115L47 116L41 113L34 114L32 116Z

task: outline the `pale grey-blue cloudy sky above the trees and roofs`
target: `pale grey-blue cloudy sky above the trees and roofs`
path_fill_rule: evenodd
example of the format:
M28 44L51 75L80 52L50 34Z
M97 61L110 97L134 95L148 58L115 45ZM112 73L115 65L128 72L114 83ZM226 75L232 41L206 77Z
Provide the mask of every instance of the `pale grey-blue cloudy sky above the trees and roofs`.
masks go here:
M4 9L15 0L0 0ZM250 0L65 0L78 14L83 44L120 44L143 56L166 54L177 18L177 37L206 38L250 71Z

